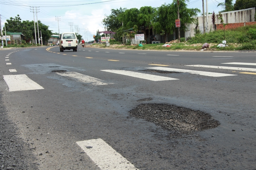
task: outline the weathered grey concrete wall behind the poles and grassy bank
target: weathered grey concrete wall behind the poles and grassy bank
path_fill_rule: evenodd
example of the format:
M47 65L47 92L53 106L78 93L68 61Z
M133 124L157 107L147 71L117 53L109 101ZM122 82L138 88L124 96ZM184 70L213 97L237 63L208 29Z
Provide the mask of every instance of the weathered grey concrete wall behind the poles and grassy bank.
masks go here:
M237 11L229 11L229 12L224 12L221 13L222 18L224 20L225 24L232 24L232 23L244 23L244 22L254 22L254 15L255 15L255 8L248 8L248 9L242 9L242 10L237 10ZM220 19L218 19L218 13L215 13L215 24L220 24ZM212 23L212 14L208 14L208 28L207 32L215 30L213 28L213 23ZM205 16L206 18L206 16ZM199 28L201 32L203 33L203 16L196 17L199 22ZM186 38L188 35L190 37L194 37L194 29L196 28L196 24L190 24L188 27L189 32L186 31Z

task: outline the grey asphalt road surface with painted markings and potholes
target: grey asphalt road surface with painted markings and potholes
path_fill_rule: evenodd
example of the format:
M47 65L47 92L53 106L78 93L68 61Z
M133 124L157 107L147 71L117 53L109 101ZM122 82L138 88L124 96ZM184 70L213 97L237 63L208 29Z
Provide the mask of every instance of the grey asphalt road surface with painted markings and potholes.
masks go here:
M256 169L256 53L0 50L0 169Z

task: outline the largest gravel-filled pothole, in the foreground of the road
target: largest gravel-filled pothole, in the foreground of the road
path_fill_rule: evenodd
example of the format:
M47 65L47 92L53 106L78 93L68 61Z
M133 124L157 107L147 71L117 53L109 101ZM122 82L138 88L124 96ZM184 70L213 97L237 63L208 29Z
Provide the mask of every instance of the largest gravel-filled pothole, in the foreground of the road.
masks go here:
M129 113L164 129L186 134L220 125L209 113L169 104L140 104Z

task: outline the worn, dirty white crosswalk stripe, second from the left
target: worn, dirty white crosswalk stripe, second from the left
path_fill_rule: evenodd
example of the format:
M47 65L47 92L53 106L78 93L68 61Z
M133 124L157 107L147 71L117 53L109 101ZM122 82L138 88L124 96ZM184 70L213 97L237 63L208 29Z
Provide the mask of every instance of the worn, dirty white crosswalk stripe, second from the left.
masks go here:
M108 84L113 84L113 83L104 83L102 82L103 80L87 76L85 74L80 74L78 72L64 72L64 73L56 73L60 76L66 76L68 78L75 79L79 82L83 83L91 83L92 85L108 85Z

